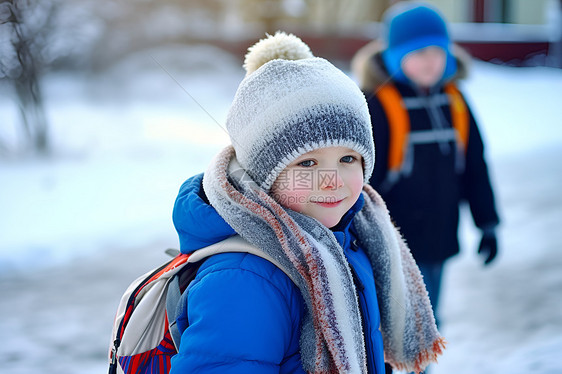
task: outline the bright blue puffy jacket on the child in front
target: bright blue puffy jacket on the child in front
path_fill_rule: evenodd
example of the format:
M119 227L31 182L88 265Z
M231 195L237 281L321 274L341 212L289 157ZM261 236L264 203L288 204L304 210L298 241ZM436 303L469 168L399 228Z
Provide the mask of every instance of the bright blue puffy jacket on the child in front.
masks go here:
M202 174L180 189L173 220L183 253L235 235L206 200ZM373 271L357 245L352 219L360 200L334 234L344 248L359 294L369 373L384 373L380 314ZM171 374L304 373L299 338L305 311L299 289L275 265L247 253L210 257L184 295L182 332ZM187 298L187 300L185 300Z

